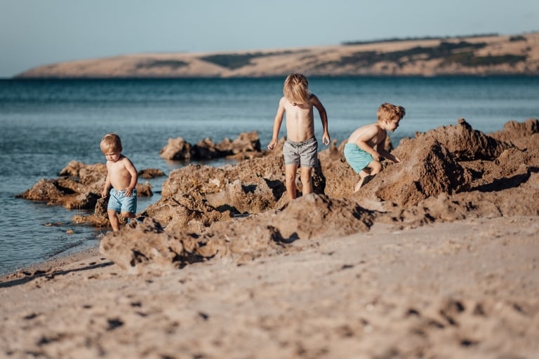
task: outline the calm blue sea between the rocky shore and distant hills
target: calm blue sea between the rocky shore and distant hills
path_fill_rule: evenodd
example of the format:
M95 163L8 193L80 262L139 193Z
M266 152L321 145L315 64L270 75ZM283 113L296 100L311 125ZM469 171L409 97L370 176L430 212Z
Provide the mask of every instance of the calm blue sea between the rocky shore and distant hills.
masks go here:
M69 161L105 162L103 135L118 133L138 170L159 168L166 175L185 165L159 156L171 137L218 143L257 130L265 147L283 81L0 80L0 274L98 245L102 231L71 223L84 212L15 196L41 178L57 178ZM458 118L485 133L501 130L507 121L539 118L539 77L313 78L310 89L326 107L330 135L338 143L375 121L382 102L406 108L391 134L394 146ZM316 112L315 128L320 138ZM139 212L159 200L164 180L149 181L155 196L138 198Z

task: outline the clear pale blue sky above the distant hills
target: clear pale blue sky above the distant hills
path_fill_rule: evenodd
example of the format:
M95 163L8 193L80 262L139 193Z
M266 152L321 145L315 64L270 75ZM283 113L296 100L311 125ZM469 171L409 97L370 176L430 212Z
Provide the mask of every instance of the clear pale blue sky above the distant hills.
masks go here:
M538 0L0 0L0 78L130 53L537 31Z

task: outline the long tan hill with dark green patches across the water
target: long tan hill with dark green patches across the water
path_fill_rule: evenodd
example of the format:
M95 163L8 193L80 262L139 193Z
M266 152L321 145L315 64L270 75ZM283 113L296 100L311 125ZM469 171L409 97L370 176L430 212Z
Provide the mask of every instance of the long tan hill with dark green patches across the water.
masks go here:
M390 39L218 53L144 53L59 62L15 78L539 75L539 32Z

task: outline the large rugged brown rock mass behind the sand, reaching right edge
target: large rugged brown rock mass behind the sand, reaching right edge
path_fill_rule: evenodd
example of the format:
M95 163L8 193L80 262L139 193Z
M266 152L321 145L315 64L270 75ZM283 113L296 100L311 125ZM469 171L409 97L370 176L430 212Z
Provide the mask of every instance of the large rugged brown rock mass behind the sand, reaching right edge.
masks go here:
M107 248L122 238L144 241L145 231L154 231L145 226L157 224L163 227L163 238L155 251L167 248L173 237L182 244L177 246L181 252L159 256L167 258L165 270L213 257L242 262L261 251L280 253L300 239L368 231L375 222L413 228L468 217L538 215L539 149L533 146L537 125L537 119L529 119L491 136L460 119L456 126L418 133L394 149L401 163L385 163L356 194L352 189L357 175L333 143L319 154L321 168L315 177L324 178L324 185L292 202L285 196L280 157L222 168L189 165L171 172L163 198L145 213L151 218L105 236L100 250L114 262L130 263L128 271L140 273L146 263L152 263L152 270L157 267L151 260L133 259L133 250L124 249L121 255ZM448 140L451 136L455 141ZM159 217L162 213L166 216Z

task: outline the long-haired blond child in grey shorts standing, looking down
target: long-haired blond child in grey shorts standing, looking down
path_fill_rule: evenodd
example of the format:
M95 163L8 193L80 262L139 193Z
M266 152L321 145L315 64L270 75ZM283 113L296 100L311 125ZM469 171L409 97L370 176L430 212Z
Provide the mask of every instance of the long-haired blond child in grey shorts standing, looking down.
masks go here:
M318 142L314 137L314 114L316 107L322 121L324 135L322 142L329 144L328 116L326 109L316 95L309 91L309 81L302 74L291 74L286 77L283 86L283 97L273 124L272 142L268 149L274 149L279 140L279 130L286 112L286 142L283 147L285 165L285 184L288 198L293 200L295 194L295 175L301 167L302 194L312 192L312 168L318 166Z

